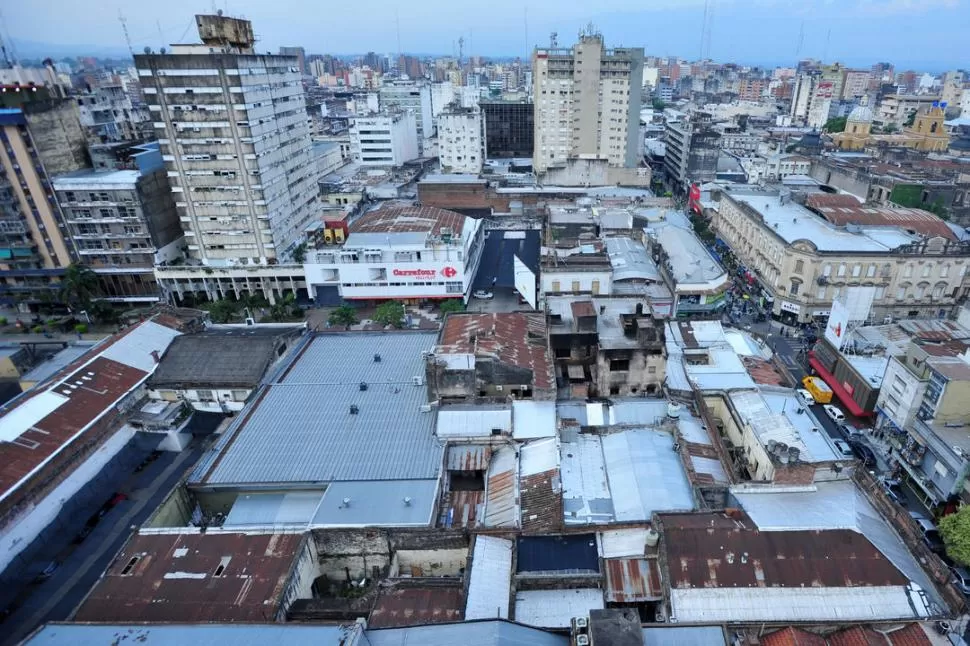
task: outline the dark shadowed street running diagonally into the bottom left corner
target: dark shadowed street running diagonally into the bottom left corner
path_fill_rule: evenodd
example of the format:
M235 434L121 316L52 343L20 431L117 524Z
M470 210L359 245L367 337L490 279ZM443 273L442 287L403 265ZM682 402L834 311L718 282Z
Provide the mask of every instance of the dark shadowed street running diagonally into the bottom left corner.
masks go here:
M150 465L155 468L133 476L129 499L109 511L53 576L34 586L23 605L4 620L0 644L16 644L42 624L68 619L128 540L131 529L148 519L202 451L197 441L174 458L159 459Z

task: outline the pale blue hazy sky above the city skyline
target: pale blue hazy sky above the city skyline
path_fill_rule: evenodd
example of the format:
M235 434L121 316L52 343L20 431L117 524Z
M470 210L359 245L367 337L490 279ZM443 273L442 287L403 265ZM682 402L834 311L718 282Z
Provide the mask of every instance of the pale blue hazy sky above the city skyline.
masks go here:
M934 70L970 67L970 0L709 0L710 55L718 61L787 64L796 55L851 65L889 60ZM574 42L592 22L608 45L696 59L704 0L18 0L0 2L4 36L21 52L43 41L125 48L118 9L136 52L197 40L193 16L223 9L253 21L259 49L308 53L407 52L516 56ZM528 20L526 20L528 14ZM528 22L528 39L526 37ZM799 39L799 33L804 35ZM801 45L799 47L799 41ZM528 44L527 44L528 43ZM30 52L33 54L33 52Z

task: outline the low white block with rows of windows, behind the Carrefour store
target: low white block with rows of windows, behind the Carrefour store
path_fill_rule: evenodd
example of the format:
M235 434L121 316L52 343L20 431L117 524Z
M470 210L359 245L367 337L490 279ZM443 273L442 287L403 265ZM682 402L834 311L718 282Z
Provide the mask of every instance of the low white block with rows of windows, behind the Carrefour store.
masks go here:
M400 166L420 156L417 125L411 111L356 117L350 123L350 146L361 166Z

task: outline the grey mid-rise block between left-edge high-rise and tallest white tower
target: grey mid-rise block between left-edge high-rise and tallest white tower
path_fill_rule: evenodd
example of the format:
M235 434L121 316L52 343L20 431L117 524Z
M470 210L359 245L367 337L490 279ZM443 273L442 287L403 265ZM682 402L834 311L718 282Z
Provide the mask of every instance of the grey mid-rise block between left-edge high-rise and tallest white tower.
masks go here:
M53 179L78 258L114 302L160 298L154 267L182 255L182 229L161 154L139 170L81 170Z

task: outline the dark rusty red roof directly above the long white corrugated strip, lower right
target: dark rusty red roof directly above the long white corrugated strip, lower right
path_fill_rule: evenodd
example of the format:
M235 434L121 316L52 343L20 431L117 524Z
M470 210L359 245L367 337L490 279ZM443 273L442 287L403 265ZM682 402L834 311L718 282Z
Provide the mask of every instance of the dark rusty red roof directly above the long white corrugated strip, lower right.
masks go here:
M671 588L905 586L909 580L852 530L770 531L698 514L699 526L664 517ZM715 526L704 527L703 520ZM702 529L703 531L698 531Z

